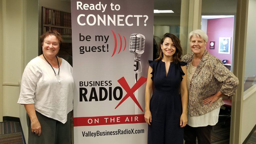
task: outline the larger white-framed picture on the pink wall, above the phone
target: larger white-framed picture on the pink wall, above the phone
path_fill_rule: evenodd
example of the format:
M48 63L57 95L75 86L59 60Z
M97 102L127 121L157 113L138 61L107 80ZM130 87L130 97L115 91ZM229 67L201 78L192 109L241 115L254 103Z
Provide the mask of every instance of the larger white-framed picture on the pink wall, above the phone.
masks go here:
M219 54L230 54L231 37L219 37Z

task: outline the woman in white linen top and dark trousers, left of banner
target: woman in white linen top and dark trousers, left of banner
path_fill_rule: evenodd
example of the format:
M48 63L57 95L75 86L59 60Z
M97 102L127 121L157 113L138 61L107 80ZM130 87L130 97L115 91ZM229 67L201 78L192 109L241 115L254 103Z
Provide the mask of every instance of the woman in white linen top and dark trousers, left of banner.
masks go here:
M73 69L56 56L62 42L56 30L42 34L40 41L43 54L27 64L18 100L28 115L28 143L70 143Z

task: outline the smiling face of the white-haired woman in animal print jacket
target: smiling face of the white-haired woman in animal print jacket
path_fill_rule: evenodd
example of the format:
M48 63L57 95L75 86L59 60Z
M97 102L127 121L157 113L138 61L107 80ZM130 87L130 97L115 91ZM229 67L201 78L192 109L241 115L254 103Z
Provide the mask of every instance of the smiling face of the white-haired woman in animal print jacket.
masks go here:
M192 37L190 40L190 49L194 54L203 54L205 52L207 42L201 37Z

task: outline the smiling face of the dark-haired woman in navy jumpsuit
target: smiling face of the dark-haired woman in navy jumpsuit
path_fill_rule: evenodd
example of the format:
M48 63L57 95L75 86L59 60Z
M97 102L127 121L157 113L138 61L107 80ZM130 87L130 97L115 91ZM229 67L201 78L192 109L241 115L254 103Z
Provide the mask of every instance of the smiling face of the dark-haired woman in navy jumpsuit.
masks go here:
M167 56L167 57L173 56L176 52L176 47L172 39L169 37L166 37L164 39L163 44L161 44L161 49L163 51L164 56Z

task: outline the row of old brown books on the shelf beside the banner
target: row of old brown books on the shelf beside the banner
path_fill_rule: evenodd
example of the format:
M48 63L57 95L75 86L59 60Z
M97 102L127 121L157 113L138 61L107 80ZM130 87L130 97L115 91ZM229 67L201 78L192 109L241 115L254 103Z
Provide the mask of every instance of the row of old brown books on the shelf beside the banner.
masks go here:
M43 7L43 24L71 27L71 13Z

